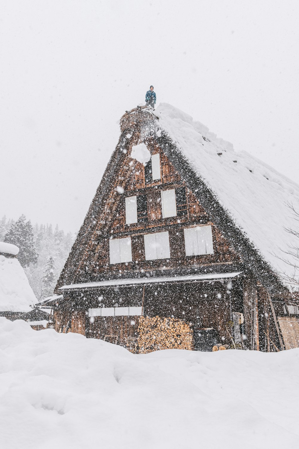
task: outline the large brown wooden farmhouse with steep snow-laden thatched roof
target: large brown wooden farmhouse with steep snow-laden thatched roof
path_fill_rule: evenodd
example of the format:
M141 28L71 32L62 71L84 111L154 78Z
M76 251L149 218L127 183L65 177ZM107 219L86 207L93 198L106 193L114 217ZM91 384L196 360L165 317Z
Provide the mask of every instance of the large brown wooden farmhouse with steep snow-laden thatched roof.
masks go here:
M56 330L147 352L185 348L164 335L179 322L195 349L297 347L299 186L168 104L120 126L56 285Z

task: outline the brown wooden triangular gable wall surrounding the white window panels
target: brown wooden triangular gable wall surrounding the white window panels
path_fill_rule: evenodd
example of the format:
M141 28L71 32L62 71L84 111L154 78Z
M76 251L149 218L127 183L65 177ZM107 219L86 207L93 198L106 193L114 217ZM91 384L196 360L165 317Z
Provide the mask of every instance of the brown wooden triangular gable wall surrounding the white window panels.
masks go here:
M160 154L161 179L146 180L146 168L142 163L130 158L132 145L139 143L136 132L123 146L124 158L119 167L118 176L109 186L107 197L101 207L99 216L95 217L96 226L84 256L78 266L73 282L99 280L107 277L138 276L140 272L153 269L183 272L194 265L212 267L217 264L240 262L240 257L230 247L227 240L211 221L207 212L196 199L195 194L187 187L186 182L174 169L173 164L157 145L154 138L147 140L147 148L151 154ZM120 150L121 151L121 150ZM123 193L120 193L123 189ZM178 216L162 218L161 190L181 189L180 201L177 198ZM126 225L125 198L145 195L146 211L139 216L138 222ZM184 228L194 225L211 225L213 235L213 255L186 257L184 246ZM170 259L145 260L143 235L152 232L169 231ZM127 264L110 264L109 238L130 237L132 242L132 262ZM162 272L161 272L162 273Z

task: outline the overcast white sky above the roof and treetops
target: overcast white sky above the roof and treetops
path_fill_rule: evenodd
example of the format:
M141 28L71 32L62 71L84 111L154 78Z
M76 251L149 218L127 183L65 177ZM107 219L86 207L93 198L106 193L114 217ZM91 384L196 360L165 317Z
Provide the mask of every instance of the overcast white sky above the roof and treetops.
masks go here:
M125 110L176 106L297 181L299 2L0 0L0 218L77 231Z

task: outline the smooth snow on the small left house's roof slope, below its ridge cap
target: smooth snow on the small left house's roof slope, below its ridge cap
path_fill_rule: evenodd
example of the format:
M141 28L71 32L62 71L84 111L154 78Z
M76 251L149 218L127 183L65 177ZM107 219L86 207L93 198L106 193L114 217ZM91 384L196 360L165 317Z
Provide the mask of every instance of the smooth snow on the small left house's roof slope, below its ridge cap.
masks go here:
M20 262L0 255L0 311L30 312L36 303Z

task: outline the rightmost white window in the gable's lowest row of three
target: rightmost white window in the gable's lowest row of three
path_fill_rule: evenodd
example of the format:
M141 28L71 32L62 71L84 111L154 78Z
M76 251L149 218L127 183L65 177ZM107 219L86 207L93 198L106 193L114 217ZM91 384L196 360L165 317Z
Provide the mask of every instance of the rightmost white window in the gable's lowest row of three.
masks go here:
M184 229L186 255L214 254L212 226Z

